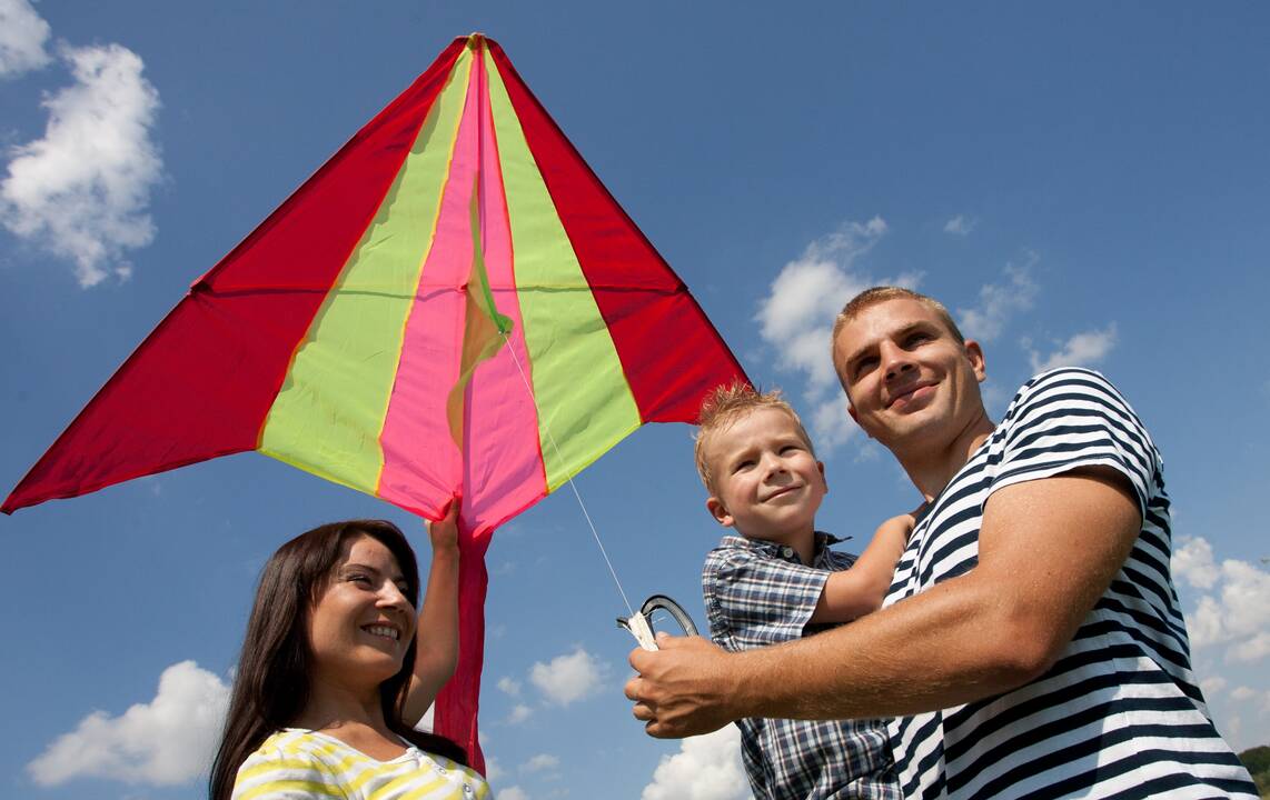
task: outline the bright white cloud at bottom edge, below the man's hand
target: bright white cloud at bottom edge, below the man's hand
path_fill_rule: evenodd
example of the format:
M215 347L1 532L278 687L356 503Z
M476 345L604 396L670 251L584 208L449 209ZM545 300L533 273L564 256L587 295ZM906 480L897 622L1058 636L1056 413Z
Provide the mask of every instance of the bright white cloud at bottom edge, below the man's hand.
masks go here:
M685 739L679 752L663 756L644 787L641 800L743 800L749 781L740 762L740 731L735 725Z

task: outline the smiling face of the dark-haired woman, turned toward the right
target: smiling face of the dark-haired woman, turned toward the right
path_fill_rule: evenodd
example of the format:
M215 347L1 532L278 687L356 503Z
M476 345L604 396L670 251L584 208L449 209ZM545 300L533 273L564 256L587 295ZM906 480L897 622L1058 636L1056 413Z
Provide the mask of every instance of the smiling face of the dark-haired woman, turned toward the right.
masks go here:
M366 535L344 541L325 590L309 612L318 674L378 686L401 669L414 639L415 611L396 557Z

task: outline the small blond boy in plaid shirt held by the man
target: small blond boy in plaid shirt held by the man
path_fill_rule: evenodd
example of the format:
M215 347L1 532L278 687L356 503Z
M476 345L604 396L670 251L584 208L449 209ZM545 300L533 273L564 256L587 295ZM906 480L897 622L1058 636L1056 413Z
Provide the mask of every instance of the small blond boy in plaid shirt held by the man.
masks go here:
M739 535L725 536L702 569L711 639L748 650L875 611L913 518L883 523L859 559L834 552L828 546L841 540L814 527L828 491L824 465L777 392L719 389L702 404L700 424L696 462L710 493L706 509ZM737 725L756 797L900 796L878 720L749 717Z

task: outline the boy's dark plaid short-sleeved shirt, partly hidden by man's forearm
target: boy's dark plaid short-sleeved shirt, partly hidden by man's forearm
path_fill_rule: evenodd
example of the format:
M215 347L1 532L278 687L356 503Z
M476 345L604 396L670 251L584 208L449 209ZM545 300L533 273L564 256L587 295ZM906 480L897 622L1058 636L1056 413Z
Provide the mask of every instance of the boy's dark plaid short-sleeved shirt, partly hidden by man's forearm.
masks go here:
M710 637L725 650L751 650L831 627L809 626L808 620L829 573L856 561L829 550L838 541L817 533L815 557L804 566L792 547L723 537L701 570ZM737 726L756 797L900 797L880 720L749 717Z

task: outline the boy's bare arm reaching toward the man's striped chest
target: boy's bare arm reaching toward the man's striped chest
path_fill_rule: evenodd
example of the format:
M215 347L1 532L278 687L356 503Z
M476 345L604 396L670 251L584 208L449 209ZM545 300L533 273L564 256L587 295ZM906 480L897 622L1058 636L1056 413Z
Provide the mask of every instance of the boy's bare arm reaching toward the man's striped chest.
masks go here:
M881 523L851 569L833 573L826 580L810 622L850 622L878 611L895 575L895 564L904 554L908 535L913 532L913 514L900 514Z

